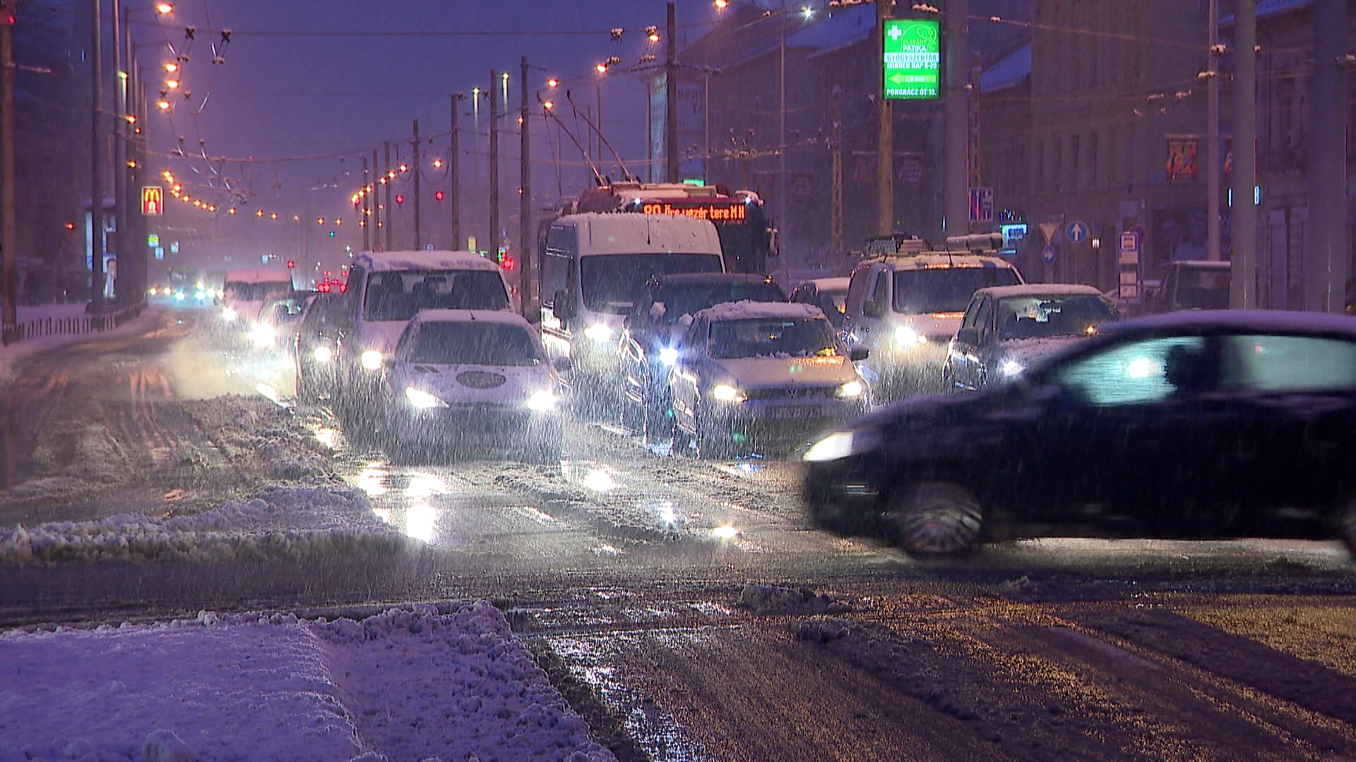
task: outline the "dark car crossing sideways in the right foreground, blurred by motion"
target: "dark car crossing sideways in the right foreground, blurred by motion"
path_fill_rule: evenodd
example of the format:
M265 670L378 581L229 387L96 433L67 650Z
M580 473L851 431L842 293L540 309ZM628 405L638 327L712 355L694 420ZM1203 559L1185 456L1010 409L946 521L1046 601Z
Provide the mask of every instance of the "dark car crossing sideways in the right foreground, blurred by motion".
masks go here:
M1012 384L864 416L804 457L816 521L911 555L1056 529L1356 550L1356 321L1128 320Z

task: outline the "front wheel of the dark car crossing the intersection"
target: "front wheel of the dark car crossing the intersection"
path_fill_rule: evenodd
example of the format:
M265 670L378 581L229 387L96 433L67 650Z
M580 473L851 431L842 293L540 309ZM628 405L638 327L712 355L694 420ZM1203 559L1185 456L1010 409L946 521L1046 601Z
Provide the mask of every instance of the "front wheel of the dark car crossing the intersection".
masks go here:
M910 556L957 556L979 546L984 514L970 489L923 481L888 500L884 518L891 540Z

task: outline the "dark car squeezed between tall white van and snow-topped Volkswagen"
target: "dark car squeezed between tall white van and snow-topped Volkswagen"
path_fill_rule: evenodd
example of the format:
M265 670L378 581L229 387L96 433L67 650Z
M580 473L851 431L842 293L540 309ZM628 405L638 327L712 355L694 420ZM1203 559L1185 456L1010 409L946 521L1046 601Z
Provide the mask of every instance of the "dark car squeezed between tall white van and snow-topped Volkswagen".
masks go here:
M655 275L645 283L622 325L618 347L624 415L628 424L644 430L647 441L673 438L669 369L678 357L674 343L693 315L730 301L784 302L786 294L767 275L735 273Z

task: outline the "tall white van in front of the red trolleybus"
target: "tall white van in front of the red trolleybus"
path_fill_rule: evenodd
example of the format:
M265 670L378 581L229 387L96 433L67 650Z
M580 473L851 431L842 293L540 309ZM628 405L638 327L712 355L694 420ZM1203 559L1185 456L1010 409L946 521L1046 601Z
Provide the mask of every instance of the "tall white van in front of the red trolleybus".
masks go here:
M570 358L576 400L617 400L621 324L645 282L674 273L724 273L716 226L670 214L567 214L546 230L541 340Z

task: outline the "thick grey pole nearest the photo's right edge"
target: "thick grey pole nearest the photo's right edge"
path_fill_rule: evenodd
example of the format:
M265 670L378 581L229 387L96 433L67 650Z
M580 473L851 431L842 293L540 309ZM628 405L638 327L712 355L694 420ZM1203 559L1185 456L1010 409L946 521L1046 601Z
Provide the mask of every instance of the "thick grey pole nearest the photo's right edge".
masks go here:
M1347 309L1347 0L1315 0L1304 309ZM1237 144L1235 144L1237 145ZM1237 149L1235 149L1237 151Z

